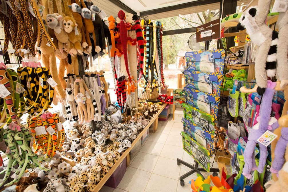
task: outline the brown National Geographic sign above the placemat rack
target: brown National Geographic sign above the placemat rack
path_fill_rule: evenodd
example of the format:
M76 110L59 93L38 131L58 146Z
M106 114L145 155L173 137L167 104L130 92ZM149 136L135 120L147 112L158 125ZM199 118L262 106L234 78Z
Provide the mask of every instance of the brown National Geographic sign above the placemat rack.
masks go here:
M220 38L220 18L196 27L196 42Z

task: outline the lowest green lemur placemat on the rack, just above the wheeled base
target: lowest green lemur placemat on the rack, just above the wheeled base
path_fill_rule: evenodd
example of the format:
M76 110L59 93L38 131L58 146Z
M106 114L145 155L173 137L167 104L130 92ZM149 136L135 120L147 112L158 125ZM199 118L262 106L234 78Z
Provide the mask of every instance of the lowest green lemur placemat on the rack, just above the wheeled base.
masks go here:
M198 162L200 166L202 166L205 171L210 171L210 157L209 151L202 147L197 141L193 138L181 132L182 141L183 141L183 149L191 155L195 161Z

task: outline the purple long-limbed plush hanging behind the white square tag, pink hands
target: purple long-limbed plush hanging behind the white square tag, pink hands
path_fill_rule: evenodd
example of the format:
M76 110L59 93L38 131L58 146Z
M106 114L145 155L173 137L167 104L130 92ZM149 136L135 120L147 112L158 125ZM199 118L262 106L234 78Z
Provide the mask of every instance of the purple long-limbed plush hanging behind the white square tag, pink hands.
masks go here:
M249 133L248 142L244 151L244 162L242 174L247 178L251 178L251 171L257 169L259 173L262 173L267 158L267 147L257 141L257 139L264 134L267 130L274 131L279 127L278 121L274 117L270 117L272 99L274 95L274 88L276 82L267 81L267 89L263 95L262 103L260 105L259 116L257 117L258 123L253 126L253 129ZM256 144L259 143L260 147L260 158L258 168L255 163L254 149Z

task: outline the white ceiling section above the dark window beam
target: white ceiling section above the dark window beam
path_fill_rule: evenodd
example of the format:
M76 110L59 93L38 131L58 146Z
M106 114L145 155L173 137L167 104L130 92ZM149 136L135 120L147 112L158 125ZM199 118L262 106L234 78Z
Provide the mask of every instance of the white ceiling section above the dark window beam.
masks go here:
M135 12L149 11L182 3L192 2L191 0L120 0L122 3L133 9ZM196 1L196 0L194 0Z

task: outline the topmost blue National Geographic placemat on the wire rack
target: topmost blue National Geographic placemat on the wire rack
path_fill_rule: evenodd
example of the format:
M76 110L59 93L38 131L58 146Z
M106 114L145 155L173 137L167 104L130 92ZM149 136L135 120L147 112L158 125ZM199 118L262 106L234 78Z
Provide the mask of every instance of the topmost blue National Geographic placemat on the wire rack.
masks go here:
M186 52L187 69L205 73L223 74L225 50Z

